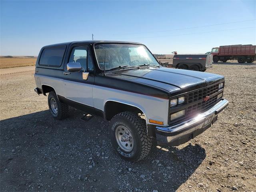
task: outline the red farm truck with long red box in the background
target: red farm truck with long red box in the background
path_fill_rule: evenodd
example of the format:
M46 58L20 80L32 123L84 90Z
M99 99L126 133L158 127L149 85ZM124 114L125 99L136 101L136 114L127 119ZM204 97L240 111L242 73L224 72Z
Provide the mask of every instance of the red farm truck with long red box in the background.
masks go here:
M238 60L238 63L251 63L256 58L256 45L226 45L212 48L213 62Z

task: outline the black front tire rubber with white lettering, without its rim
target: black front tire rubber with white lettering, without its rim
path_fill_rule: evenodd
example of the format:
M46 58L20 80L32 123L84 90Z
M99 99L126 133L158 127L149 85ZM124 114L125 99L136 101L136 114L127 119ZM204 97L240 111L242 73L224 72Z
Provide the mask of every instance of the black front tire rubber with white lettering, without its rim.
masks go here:
M122 150L116 140L116 129L125 126L134 140L134 146L130 152ZM152 147L152 138L146 132L146 121L138 114L132 112L121 112L110 121L110 140L114 150L125 160L137 162L145 158Z

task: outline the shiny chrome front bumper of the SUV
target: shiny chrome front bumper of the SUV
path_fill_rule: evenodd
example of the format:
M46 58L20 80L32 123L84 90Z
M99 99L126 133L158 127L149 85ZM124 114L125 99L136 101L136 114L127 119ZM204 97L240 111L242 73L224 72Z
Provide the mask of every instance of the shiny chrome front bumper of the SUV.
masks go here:
M168 127L156 127L156 139L159 144L170 144L178 146L191 138L201 134L209 128L216 120L218 114L228 106L228 100L222 99L208 111L198 116ZM205 122L210 122L205 124Z

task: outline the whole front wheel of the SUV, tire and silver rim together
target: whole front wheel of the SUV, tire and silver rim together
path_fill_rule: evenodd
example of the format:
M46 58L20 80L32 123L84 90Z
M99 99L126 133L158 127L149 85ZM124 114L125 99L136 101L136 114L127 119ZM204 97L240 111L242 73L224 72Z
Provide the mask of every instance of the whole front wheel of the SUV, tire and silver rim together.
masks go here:
M152 146L152 138L146 133L145 120L132 112L122 112L112 118L110 139L114 150L132 162L145 158Z

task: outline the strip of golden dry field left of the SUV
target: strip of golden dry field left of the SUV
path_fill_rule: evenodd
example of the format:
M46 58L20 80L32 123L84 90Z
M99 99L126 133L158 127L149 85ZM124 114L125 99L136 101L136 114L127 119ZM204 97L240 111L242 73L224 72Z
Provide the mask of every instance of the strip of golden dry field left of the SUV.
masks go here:
M36 58L2 58L0 57L0 69L10 67L34 66Z

